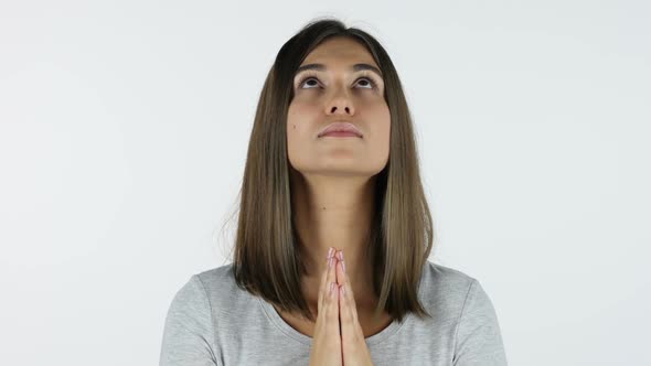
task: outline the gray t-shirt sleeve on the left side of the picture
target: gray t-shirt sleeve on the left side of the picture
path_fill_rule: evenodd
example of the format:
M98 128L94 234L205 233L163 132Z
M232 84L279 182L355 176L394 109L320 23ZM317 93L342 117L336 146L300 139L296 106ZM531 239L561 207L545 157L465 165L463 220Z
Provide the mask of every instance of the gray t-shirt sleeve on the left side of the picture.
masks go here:
M177 292L166 317L160 366L217 366L211 305L198 274Z

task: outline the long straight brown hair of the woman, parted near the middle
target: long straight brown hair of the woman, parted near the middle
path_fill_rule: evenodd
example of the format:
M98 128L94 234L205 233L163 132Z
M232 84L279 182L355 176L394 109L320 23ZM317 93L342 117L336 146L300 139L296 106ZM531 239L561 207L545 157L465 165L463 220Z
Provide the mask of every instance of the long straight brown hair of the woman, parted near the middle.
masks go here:
M295 72L317 45L332 36L350 37L369 50L384 75L391 114L389 157L374 176L376 211L367 247L378 297L375 310L385 310L398 321L408 312L430 316L418 301L418 284L433 247L433 223L407 101L383 46L337 19L313 20L287 41L265 80L239 191L233 260L236 283L284 311L316 319L301 291L306 268L292 219L286 129Z

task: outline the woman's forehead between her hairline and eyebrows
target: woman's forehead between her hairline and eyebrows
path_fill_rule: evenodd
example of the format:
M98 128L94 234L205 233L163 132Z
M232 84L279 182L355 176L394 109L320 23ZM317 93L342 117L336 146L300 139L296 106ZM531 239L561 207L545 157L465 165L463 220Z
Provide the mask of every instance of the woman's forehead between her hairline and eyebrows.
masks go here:
M333 37L323 41L308 56L302 64L356 64L365 63L377 67L371 53L361 43L348 37Z

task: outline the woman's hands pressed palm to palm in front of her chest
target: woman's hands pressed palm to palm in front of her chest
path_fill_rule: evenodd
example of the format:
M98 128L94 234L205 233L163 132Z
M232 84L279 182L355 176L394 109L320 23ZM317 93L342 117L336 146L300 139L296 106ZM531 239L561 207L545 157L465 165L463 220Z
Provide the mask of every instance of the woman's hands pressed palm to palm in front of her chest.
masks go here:
M318 301L310 366L373 365L341 250L328 250Z

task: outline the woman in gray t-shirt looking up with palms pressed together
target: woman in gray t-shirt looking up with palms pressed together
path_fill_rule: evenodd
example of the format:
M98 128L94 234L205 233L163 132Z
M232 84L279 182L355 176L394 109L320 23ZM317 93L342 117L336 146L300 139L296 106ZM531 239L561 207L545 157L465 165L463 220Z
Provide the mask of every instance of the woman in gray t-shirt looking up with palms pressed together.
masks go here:
M260 94L234 262L194 274L161 365L506 365L479 282L427 260L433 225L393 63L306 25Z

